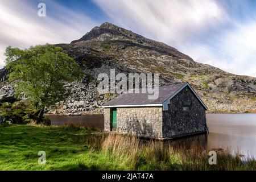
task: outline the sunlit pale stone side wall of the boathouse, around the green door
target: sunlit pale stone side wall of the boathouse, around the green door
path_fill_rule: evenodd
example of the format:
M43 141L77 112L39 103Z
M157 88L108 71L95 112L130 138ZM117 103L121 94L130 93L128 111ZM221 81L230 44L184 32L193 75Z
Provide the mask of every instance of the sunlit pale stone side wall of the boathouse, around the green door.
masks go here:
M111 130L111 109L105 108L105 130ZM144 135L146 137L162 137L162 107L118 107L117 131Z

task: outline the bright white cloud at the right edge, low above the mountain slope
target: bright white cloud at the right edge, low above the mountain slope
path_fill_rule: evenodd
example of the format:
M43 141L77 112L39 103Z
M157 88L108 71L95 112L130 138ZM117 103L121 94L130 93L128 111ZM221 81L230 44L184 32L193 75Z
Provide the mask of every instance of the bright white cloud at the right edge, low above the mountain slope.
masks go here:
M195 61L214 65L237 75L256 77L256 23L247 22L234 25L213 39L214 46L195 44L185 47Z

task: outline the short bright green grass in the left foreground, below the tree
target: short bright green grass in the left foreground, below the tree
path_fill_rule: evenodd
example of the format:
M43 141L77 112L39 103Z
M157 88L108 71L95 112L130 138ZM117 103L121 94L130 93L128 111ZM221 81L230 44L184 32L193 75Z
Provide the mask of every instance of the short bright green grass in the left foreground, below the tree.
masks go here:
M0 170L79 169L77 161L88 147L73 140L89 132L68 127L0 125ZM46 165L38 164L39 151L46 151Z

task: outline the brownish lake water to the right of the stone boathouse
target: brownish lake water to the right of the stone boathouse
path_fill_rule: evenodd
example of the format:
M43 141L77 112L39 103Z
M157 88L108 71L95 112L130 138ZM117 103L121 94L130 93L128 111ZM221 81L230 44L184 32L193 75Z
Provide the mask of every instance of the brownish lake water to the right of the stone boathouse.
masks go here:
M256 114L207 114L209 134L174 140L181 146L223 148L256 158Z

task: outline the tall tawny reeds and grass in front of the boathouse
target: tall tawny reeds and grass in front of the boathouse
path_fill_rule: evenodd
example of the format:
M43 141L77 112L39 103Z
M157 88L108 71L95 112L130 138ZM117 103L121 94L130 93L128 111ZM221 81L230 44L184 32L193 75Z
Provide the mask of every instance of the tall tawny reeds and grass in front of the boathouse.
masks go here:
M115 169L119 166L129 170L256 170L254 159L245 162L229 151L217 151L217 164L210 165L209 150L196 144L177 147L172 142L143 142L135 135L115 133L89 137L86 143L97 143L105 160L117 163Z

